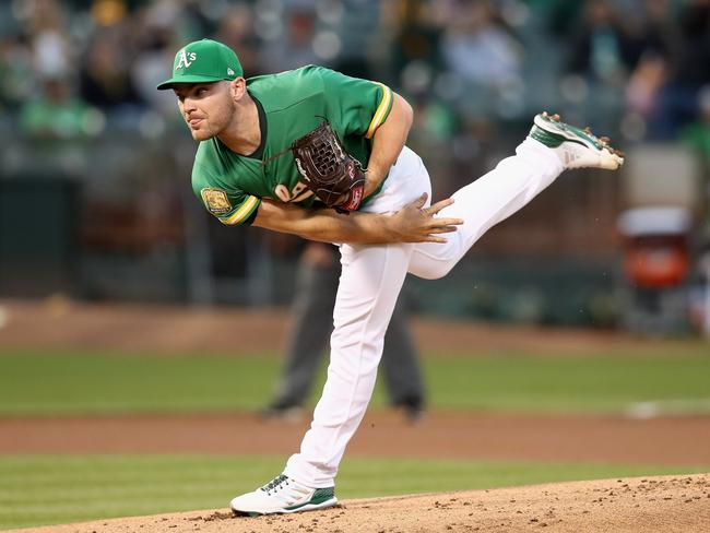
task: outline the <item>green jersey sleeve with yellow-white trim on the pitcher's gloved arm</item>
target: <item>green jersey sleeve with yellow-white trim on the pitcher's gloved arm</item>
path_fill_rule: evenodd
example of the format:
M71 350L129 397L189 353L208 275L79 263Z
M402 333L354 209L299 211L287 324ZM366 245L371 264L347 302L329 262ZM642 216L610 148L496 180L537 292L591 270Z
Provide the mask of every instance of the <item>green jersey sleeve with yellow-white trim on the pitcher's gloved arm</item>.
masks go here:
M329 118L345 135L371 139L392 109L392 90L387 85L351 78L319 68Z

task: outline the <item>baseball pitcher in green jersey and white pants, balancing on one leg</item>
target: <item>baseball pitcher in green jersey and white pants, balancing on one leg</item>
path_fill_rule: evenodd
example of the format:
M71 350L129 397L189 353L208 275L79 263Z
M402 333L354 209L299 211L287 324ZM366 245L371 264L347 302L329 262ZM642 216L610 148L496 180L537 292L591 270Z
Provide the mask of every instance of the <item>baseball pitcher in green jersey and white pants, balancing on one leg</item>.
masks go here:
M175 92L200 143L192 186L210 213L340 244L331 360L311 427L282 474L232 500L240 514L336 504L338 465L370 400L407 272L446 275L563 170L624 162L606 139L541 114L514 155L429 205L426 167L405 146L412 108L381 83L315 66L246 80L232 49L204 39L177 52L158 88Z

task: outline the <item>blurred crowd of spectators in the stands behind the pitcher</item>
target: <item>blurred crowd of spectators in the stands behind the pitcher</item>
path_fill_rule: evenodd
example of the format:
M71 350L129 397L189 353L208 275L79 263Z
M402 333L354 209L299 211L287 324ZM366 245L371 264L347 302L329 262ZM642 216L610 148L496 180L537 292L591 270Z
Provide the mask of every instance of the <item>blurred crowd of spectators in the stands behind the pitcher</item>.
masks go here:
M157 137L178 121L155 84L205 36L247 75L312 62L387 82L419 110L412 142L454 157L541 107L710 153L709 0L11 0L0 128Z

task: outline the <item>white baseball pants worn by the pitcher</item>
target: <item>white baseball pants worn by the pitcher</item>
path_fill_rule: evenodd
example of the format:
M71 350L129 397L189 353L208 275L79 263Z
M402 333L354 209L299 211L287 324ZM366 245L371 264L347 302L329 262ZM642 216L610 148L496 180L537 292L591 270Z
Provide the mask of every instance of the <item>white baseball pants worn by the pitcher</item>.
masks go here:
M345 447L375 388L384 332L407 272L427 280L446 275L492 226L524 206L563 171L551 149L526 139L516 155L453 194L440 216L464 224L447 244L341 246L342 274L335 299L328 379L310 429L284 473L313 488L332 487ZM382 190L363 211L393 212L423 192L429 175L419 156L404 147Z

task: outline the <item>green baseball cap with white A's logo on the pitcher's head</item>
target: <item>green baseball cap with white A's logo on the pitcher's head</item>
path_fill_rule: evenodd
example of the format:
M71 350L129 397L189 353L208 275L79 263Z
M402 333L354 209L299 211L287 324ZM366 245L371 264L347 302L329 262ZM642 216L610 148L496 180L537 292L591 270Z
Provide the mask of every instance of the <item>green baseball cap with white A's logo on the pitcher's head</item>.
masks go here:
M216 40L196 40L178 50L173 63L173 78L157 88L173 88L175 83L234 80L242 73L241 63L232 48Z

